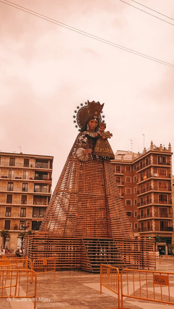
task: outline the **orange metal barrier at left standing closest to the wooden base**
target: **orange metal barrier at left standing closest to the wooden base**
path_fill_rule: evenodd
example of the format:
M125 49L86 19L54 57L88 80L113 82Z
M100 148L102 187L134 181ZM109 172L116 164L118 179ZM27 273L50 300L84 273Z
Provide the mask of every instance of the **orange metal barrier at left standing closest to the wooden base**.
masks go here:
M56 271L55 257L48 257L45 259L35 259L32 263L32 269L37 273L54 273ZM32 281L33 282L33 281Z

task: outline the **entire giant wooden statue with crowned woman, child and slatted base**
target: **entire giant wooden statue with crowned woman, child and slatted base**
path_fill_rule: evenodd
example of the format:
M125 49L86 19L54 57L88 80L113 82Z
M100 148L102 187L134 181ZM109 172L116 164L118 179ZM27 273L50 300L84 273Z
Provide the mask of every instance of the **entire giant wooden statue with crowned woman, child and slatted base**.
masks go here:
M122 248L123 241L134 241L110 162L114 154L107 138L112 134L104 131L103 105L88 101L74 111L74 123L80 133L39 232L28 240L31 258L36 252L37 256L55 254L60 267L76 265L92 271L101 262L118 265L116 242ZM126 250L130 251L127 245Z

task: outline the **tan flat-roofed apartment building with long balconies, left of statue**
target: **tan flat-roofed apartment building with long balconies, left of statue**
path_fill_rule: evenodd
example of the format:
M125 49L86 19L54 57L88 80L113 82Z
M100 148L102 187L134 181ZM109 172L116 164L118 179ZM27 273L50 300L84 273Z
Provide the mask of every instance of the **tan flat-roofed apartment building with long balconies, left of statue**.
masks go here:
M22 231L38 230L51 197L52 156L0 152L0 230L8 248L21 245Z

